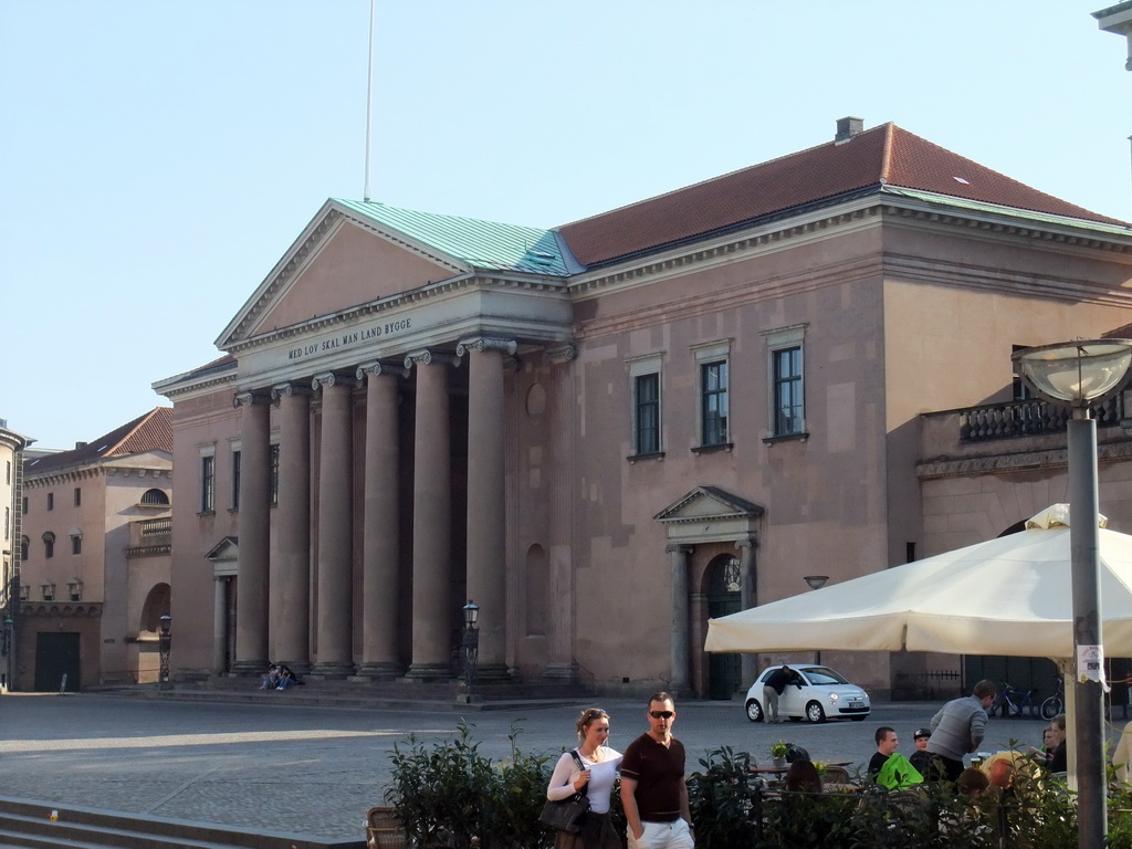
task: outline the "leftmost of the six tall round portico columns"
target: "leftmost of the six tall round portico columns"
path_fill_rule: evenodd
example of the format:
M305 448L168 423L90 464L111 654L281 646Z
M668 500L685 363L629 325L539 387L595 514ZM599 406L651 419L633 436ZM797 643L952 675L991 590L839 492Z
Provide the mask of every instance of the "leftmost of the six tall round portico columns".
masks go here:
M237 675L263 675L267 667L267 593L271 534L268 525L268 395L241 392L240 409L240 560L235 589Z

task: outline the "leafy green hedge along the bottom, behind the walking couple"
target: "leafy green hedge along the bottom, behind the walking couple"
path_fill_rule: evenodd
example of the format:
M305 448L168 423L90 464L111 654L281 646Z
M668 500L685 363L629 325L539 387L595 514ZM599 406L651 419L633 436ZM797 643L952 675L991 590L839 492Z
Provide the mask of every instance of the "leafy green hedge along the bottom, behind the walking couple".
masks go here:
M426 746L411 736L394 746L393 782L385 797L415 847L549 849L554 833L539 812L558 754L524 754L518 729L511 755L492 762L479 754L472 727ZM975 804L950 786L887 792L783 794L764 797L751 756L729 747L705 753L688 777L697 849L1075 849L1077 799L1064 782L1040 769L1020 771L1013 791ZM612 796L614 825L625 833L620 797ZM1005 842L1001 832L1005 830ZM1110 849L1132 849L1132 788L1109 786ZM1099 848L1098 848L1099 849Z

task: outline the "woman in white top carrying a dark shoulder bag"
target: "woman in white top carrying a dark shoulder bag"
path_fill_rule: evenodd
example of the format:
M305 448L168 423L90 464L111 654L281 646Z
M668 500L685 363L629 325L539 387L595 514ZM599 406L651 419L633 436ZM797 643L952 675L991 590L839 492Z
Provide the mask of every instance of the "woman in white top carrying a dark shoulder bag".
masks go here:
M621 753L606 745L609 714L600 707L582 711L577 720L577 739L581 745L576 752L585 769L580 770L574 756L564 752L550 775L547 798L560 801L584 788L590 797L590 813L577 834L558 832L555 849L620 849L620 838L609 822L609 796L621 765Z

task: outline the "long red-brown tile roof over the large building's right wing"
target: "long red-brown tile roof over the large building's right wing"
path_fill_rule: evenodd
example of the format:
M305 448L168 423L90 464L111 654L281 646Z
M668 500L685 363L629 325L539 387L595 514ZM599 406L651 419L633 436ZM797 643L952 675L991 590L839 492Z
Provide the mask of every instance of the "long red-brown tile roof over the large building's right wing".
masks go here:
M883 186L951 195L1030 212L1121 224L934 145L893 123L840 144L734 171L559 228L583 265L659 249Z

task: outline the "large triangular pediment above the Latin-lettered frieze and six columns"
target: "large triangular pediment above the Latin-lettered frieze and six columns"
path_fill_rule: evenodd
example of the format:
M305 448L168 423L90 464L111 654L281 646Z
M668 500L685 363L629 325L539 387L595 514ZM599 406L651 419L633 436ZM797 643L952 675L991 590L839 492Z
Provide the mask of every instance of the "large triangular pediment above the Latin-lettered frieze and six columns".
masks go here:
M216 340L243 340L466 274L456 257L331 200Z

